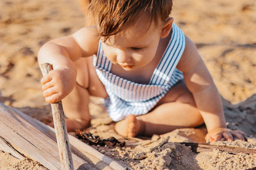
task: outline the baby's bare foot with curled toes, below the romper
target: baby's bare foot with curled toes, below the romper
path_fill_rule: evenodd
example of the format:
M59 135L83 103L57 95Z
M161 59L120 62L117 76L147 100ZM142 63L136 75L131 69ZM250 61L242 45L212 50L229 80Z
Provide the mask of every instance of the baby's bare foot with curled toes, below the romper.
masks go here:
M116 132L126 137L135 137L143 133L144 123L135 115L129 115L126 119L117 122L114 126Z

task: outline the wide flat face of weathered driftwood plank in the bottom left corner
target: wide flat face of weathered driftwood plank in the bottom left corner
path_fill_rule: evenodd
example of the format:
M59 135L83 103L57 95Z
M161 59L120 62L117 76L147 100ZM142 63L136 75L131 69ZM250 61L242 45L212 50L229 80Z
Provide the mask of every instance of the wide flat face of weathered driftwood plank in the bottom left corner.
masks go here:
M57 142L31 125L23 117L28 116L0 103L1 149L5 152L12 150L10 153L18 153L20 156L36 160L48 169L61 169ZM30 118L30 121L33 120L33 118ZM34 121L36 122L36 120ZM42 125L44 124L42 123ZM44 126L46 129L47 126ZM96 169L92 164L87 163L74 153L72 156L75 169Z

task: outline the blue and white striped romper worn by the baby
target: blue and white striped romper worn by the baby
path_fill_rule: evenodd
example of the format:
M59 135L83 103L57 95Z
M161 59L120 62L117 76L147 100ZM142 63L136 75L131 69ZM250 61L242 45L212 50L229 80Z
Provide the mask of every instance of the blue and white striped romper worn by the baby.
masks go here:
M167 91L183 79L182 72L176 68L185 48L185 36L180 28L172 25L172 37L166 51L154 70L148 85L131 82L112 74L111 62L106 58L99 42L97 58L94 66L97 75L108 93L105 101L108 115L119 121L130 114L148 113Z

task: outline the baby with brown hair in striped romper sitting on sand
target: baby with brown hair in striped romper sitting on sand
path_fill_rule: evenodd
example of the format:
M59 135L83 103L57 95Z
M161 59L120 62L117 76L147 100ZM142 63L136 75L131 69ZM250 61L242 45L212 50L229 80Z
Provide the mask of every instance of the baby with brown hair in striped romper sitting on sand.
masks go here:
M38 62L46 102L62 100L68 131L90 125L89 96L105 99L122 136L151 136L206 124L209 142L241 131L225 126L222 101L195 45L170 17L171 0L97 0L94 26L44 44Z

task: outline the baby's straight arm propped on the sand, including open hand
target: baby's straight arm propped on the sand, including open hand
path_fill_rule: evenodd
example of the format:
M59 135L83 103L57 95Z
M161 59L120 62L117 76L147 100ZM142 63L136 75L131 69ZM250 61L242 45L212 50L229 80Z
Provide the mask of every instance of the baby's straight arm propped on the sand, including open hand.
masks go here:
M193 93L196 106L206 123L208 131L206 140L214 142L225 138L233 141L233 137L244 140L246 134L226 128L218 90L198 50L188 37L186 37L186 47L177 69L183 72L186 86Z

